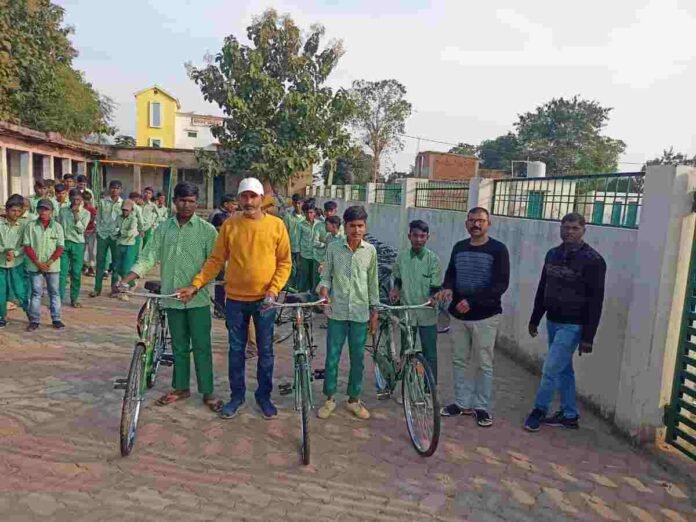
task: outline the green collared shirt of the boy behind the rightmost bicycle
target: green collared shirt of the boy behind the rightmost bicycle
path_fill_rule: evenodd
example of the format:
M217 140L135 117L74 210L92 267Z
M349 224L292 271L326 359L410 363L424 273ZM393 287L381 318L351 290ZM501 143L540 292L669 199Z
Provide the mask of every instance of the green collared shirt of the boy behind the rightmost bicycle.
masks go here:
M401 280L401 302L419 305L427 302L434 288L442 284L442 267L437 254L423 247L415 253L412 248L402 250L396 257L392 274ZM432 326L437 323L435 310L412 310L413 326Z

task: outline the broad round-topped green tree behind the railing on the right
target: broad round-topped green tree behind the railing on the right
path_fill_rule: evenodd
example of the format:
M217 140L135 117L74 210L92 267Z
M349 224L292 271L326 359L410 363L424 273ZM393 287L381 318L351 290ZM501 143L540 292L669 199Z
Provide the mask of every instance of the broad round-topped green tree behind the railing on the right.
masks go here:
M601 134L611 110L579 96L554 98L519 116L517 139L525 155L555 175L613 171L626 145Z

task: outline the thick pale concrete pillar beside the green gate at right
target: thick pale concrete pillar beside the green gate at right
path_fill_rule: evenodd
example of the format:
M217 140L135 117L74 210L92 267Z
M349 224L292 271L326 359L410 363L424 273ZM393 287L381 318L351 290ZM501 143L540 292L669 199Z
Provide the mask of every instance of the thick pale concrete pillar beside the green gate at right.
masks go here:
M675 283L683 243L693 238L688 227L687 237L682 232L691 215L694 189L696 169L647 169L614 418L619 429L638 443L654 441L662 426L660 397L663 374L670 371L665 367L670 317L681 315L683 306L683 299L674 298Z

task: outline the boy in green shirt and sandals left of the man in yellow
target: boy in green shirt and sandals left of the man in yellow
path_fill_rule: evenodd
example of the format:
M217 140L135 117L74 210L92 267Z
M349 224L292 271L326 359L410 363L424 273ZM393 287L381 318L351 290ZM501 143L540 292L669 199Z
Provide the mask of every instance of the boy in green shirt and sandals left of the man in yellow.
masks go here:
M200 272L213 251L217 232L215 227L195 214L198 204L196 185L179 183L174 187L174 204L176 216L155 229L140 259L121 282L122 286L144 277L159 263L161 293L172 294L187 287ZM198 391L203 394L203 402L211 410L217 411L221 403L213 398L212 319L208 288L201 288L187 303L165 299L161 301L161 306L167 310L172 336L174 390L162 396L157 403L164 406L191 396L193 354Z

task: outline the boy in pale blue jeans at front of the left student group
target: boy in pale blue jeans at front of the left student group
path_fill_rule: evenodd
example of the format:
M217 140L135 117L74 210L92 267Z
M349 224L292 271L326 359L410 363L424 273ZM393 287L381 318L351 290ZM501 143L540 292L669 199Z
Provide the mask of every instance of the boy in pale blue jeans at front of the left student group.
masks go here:
M26 263L31 280L31 300L29 302L29 326L32 332L39 327L41 320L41 297L43 282L48 287L51 320L56 329L65 328L60 319L60 256L65 246L63 227L52 219L53 202L42 199L36 205L39 217L27 224L24 229L24 253L29 260Z

